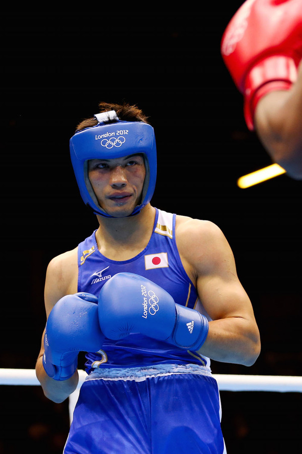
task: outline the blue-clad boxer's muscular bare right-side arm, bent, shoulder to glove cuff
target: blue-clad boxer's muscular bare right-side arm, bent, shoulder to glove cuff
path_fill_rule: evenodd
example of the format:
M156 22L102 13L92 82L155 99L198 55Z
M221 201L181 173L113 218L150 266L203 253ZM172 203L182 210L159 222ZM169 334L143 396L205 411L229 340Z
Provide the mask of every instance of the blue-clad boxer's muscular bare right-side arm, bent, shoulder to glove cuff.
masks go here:
M211 222L190 219L181 224L176 238L182 260L190 264L199 298L212 319L199 353L216 361L254 364L260 353L259 330L224 235Z

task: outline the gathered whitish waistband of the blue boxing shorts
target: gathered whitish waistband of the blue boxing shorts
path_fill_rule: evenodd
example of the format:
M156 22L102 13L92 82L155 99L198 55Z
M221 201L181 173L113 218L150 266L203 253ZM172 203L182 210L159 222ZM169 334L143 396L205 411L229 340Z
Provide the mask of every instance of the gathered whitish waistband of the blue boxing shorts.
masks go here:
M90 380L135 380L174 374L198 374L212 376L211 369L197 364L159 364L150 367L96 368L85 379Z

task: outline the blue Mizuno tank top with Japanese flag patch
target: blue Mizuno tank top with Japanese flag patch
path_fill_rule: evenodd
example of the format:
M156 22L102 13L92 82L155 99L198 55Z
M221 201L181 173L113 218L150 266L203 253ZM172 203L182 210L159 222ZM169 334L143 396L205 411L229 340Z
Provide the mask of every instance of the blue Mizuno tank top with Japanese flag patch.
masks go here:
M131 272L152 280L165 289L175 303L194 309L198 295L193 282L182 265L175 241L176 215L156 208L153 234L143 251L135 257L115 261L104 257L98 250L96 231L78 247L78 292L99 296L104 283L116 273ZM196 352L178 349L157 339L133 333L112 341L105 338L102 350L108 361L100 367L138 367L156 364L209 365L209 359ZM86 371L100 360L95 353L86 355Z

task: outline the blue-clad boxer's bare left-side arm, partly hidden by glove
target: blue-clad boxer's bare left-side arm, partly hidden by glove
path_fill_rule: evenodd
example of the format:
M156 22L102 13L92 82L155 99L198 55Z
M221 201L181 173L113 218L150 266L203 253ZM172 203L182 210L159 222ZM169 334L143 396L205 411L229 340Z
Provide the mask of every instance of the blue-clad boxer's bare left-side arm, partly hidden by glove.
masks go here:
M65 295L73 294L78 291L77 286L78 265L77 249L68 251L51 260L47 267L45 279L45 310L46 317L55 303ZM44 331L42 335L41 349L36 362L36 375L41 383L46 397L53 402L63 402L78 385L79 375L75 371L73 376L64 381L57 381L50 378L43 367L44 354Z

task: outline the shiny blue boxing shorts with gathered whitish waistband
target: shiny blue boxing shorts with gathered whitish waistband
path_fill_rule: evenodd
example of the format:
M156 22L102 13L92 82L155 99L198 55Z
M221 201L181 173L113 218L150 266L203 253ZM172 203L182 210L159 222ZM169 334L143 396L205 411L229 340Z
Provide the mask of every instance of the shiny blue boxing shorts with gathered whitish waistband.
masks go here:
M83 383L64 454L225 454L208 367L96 369Z

